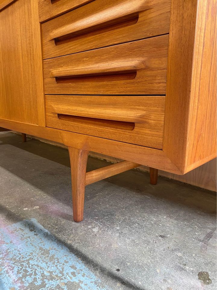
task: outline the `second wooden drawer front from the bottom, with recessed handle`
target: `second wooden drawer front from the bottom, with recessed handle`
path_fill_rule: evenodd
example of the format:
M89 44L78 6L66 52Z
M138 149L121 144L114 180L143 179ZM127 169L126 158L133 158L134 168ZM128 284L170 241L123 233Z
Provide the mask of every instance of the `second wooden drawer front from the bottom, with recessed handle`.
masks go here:
M46 94L164 95L168 35L44 60Z

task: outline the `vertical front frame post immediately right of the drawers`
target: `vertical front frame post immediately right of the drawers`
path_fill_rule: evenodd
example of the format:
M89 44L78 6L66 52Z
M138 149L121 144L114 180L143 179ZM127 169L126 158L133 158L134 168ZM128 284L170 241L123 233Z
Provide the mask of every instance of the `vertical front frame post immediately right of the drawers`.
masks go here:
M197 0L172 0L163 151L184 173Z

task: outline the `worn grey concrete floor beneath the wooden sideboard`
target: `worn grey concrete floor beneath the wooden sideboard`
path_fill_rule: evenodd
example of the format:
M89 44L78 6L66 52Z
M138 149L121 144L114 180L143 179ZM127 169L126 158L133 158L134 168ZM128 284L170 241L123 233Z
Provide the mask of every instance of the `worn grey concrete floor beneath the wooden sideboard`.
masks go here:
M1 290L216 290L214 193L131 170L71 203L67 150L0 133Z

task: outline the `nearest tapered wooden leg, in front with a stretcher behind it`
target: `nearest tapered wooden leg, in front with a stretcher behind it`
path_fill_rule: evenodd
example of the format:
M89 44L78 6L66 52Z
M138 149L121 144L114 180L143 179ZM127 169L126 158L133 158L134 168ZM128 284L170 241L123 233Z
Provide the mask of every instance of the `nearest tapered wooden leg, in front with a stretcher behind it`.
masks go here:
M73 147L68 147L68 150L71 163L73 219L78 223L83 220L86 164L89 151Z

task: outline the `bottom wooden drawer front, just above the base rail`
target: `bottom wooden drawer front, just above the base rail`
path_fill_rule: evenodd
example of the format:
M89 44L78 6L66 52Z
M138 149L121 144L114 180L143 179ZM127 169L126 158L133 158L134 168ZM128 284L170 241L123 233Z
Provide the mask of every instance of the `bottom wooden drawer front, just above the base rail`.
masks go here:
M47 127L162 149L165 96L45 97Z

